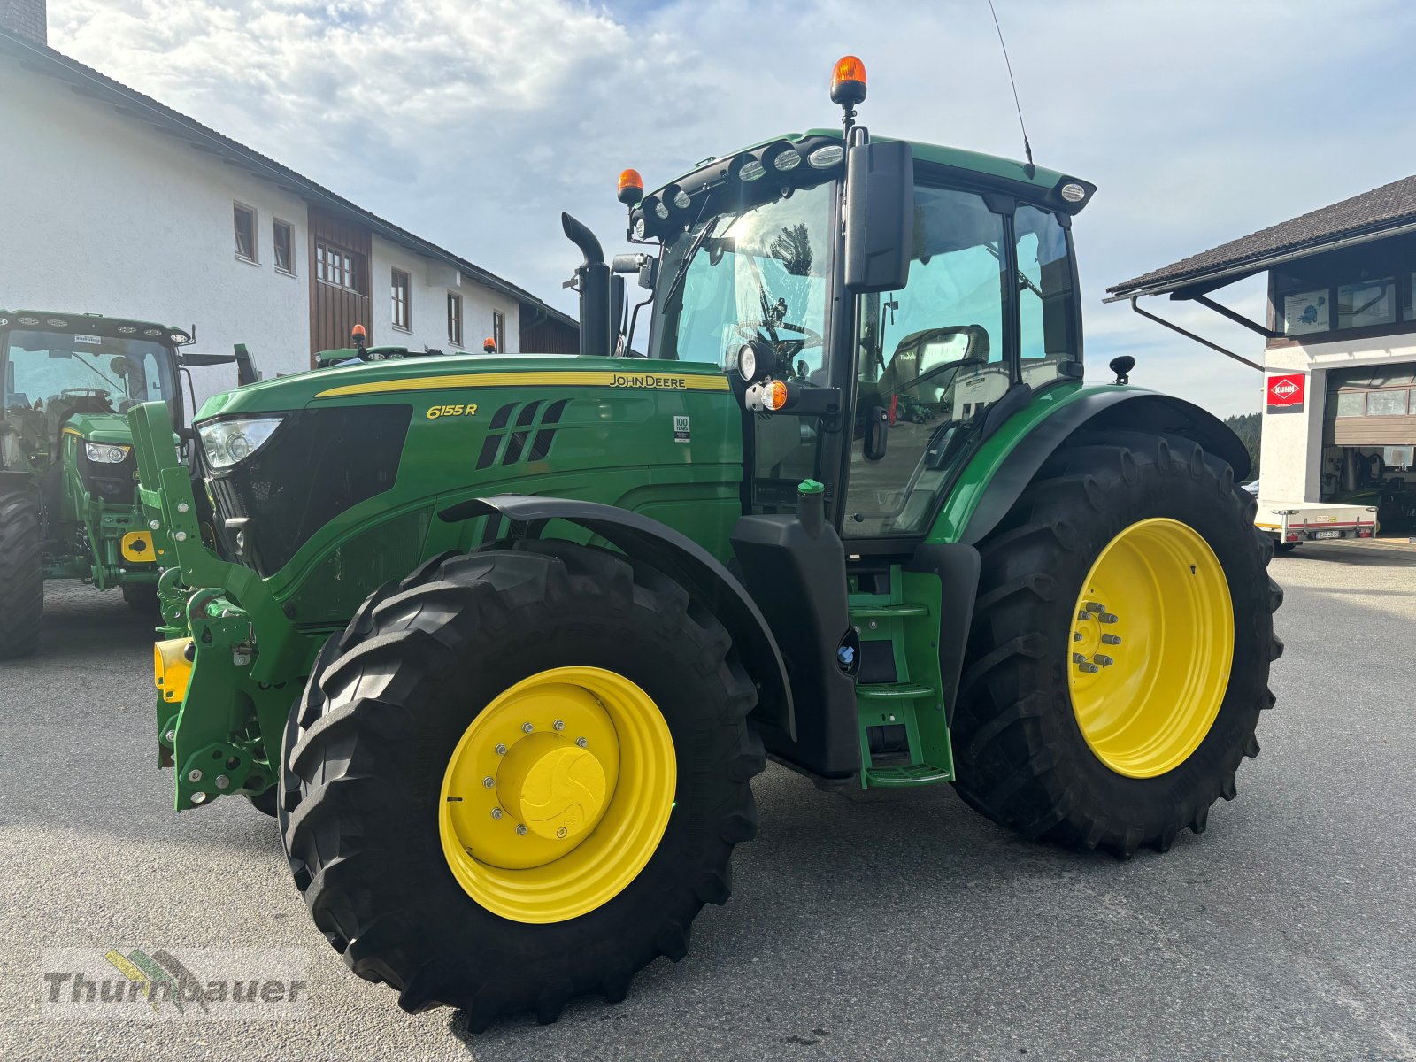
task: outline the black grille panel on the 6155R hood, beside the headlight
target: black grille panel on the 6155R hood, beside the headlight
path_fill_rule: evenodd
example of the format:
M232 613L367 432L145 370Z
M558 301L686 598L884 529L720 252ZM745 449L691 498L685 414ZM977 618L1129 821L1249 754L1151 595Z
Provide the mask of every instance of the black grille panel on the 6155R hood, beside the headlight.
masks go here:
M246 517L245 561L272 575L340 513L392 487L411 418L408 405L302 409L255 455L212 473L219 523Z

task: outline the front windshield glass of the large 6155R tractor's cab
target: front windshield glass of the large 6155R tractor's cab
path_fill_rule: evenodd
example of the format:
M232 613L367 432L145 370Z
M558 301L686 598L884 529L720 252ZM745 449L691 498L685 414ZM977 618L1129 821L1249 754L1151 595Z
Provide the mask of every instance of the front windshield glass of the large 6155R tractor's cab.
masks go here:
M779 378L824 387L834 187L715 214L667 245L650 357L726 370L752 341L776 354Z

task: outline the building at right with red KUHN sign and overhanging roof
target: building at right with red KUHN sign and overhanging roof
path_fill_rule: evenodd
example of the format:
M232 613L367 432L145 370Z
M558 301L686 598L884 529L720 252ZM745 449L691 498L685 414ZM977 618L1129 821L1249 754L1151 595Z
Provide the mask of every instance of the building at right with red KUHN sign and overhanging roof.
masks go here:
M1211 299L1259 273L1262 324ZM1262 364L1223 353L1263 371L1263 496L1378 506L1382 525L1405 532L1416 524L1413 285L1416 177L1406 177L1107 292L1133 306L1194 300L1260 334Z

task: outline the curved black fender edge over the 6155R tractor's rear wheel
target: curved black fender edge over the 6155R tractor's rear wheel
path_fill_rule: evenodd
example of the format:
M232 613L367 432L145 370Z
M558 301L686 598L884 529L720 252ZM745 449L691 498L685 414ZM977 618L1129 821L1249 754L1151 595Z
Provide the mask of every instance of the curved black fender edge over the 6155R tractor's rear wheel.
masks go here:
M1178 435L1229 463L1235 481L1249 476L1249 452L1225 422L1182 398L1137 388L1093 391L1038 423L998 469L959 541L977 545L1003 520L1048 457L1080 428Z

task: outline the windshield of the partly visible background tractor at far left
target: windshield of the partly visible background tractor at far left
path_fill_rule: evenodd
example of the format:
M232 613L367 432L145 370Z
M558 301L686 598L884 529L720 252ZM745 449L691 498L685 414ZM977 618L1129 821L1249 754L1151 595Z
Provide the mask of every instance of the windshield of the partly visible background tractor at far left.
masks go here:
M16 330L3 341L6 412L126 413L176 394L171 351L152 340Z

